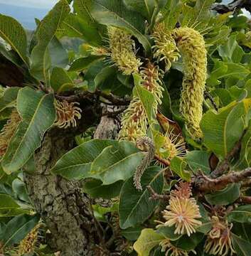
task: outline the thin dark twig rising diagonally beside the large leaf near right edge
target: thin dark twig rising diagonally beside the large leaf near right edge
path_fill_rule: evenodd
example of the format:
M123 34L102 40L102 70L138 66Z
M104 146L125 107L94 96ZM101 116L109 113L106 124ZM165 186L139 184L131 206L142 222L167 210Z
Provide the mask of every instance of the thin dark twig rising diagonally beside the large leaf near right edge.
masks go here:
M227 156L225 156L225 159L218 164L217 168L210 174L211 178L217 178L218 176L220 176L221 174L224 174L225 171L228 171L229 167L230 167L230 161L231 159L233 159L233 157L235 156L235 154L237 154L237 152L240 150L240 146L241 146L241 142L242 142L242 138L244 137L246 133L246 130L244 132L242 132L242 136L240 137L240 139L236 142L235 146L233 147L233 149L228 153Z

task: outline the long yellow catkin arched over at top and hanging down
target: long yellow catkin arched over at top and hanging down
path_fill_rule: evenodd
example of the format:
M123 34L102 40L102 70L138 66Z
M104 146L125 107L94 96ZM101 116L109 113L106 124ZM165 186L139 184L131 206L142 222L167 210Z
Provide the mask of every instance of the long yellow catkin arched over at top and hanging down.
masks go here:
M193 28L176 28L173 38L183 58L183 89L180 111L193 139L202 137L203 92L207 75L207 51L203 36Z

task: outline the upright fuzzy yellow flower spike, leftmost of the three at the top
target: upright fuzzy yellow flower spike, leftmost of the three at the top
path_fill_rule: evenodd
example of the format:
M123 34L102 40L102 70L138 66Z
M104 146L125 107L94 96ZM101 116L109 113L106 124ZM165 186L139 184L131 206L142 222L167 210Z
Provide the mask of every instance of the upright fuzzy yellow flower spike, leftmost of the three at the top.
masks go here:
M141 62L135 55L132 35L121 28L108 27L110 56L124 75L138 73Z

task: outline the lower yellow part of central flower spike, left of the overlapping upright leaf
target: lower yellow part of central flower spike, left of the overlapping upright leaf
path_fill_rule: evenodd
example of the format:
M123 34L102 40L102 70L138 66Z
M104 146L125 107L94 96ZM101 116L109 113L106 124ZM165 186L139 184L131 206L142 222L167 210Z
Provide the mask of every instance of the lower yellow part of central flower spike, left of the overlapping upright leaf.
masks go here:
M135 142L137 139L144 137L146 132L147 118L144 107L141 100L134 97L123 114L119 138Z

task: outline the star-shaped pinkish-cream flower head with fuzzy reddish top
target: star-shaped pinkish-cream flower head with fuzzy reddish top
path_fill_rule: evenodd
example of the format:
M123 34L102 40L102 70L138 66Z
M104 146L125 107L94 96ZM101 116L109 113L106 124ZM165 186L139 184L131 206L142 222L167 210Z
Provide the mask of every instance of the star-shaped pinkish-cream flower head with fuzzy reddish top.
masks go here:
M199 207L194 198L191 198L191 188L189 183L180 183L176 190L171 191L169 206L163 211L166 220L164 225L175 225L175 234L188 235L196 232L202 223Z

